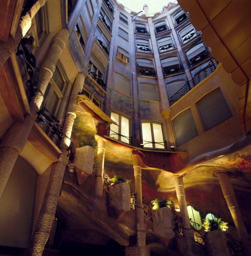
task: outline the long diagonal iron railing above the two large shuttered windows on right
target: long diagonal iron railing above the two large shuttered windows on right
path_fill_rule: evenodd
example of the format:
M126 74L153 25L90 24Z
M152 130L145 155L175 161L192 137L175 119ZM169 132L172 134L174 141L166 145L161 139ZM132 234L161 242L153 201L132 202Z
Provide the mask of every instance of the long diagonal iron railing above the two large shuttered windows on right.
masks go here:
M203 68L193 79L187 81L181 89L178 90L172 97L169 98L169 104L172 106L176 101L187 94L191 89L193 89L197 84L203 81L206 77L212 74L217 68L219 62L212 58L209 64Z

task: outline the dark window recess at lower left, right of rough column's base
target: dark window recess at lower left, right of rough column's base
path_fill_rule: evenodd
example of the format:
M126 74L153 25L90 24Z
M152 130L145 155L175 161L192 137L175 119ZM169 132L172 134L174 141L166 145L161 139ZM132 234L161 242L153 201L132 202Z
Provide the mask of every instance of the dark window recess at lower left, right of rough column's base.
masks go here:
M45 248L58 250L60 245L60 238L62 233L62 222L58 217L54 217L52 224L51 234L48 241L46 242Z

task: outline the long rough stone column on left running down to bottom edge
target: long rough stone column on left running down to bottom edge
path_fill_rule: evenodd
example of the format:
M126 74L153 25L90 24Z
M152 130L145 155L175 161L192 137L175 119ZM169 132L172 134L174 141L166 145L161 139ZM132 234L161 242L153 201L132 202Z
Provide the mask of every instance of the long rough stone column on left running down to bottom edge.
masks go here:
M33 242L30 247L29 255L42 256L43 249L51 233L52 223L57 209L58 197L60 195L61 186L64 178L68 158L67 148L70 146L70 136L72 127L76 117L77 98L76 94L82 91L85 77L79 73L76 77L72 93L70 96L69 105L67 108L66 119L63 128L63 139L60 142L60 149L63 152L57 163L54 163L46 188L43 205L37 220L36 230L33 237Z

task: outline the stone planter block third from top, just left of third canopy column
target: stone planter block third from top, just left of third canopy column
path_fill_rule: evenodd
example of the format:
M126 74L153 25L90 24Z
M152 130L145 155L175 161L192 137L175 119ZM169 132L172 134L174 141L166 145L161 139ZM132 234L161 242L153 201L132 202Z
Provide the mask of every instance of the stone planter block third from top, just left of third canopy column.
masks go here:
M158 209L153 213L154 232L166 238L173 238L173 213L168 207Z

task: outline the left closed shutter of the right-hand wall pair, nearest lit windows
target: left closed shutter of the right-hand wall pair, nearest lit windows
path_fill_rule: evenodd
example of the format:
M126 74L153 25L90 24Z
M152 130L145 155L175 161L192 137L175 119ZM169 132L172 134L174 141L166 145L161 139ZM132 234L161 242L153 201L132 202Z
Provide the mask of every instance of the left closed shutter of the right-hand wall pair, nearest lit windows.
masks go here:
M173 119L173 128L178 146L181 146L199 135L191 108L182 111Z

